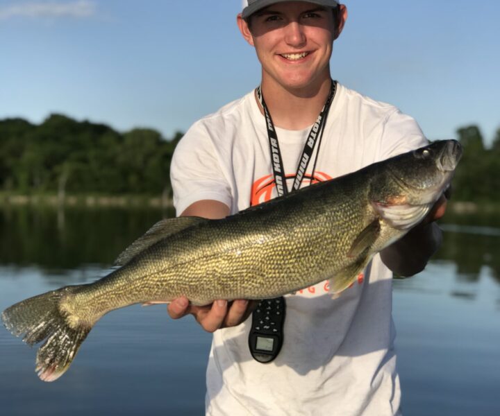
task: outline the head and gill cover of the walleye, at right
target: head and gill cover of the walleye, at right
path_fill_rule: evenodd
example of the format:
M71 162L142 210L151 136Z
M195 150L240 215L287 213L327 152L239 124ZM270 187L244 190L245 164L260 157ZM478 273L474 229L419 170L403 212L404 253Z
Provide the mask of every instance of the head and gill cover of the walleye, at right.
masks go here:
M372 205L392 227L409 229L449 187L461 156L458 141L442 140L380 162L370 184Z

